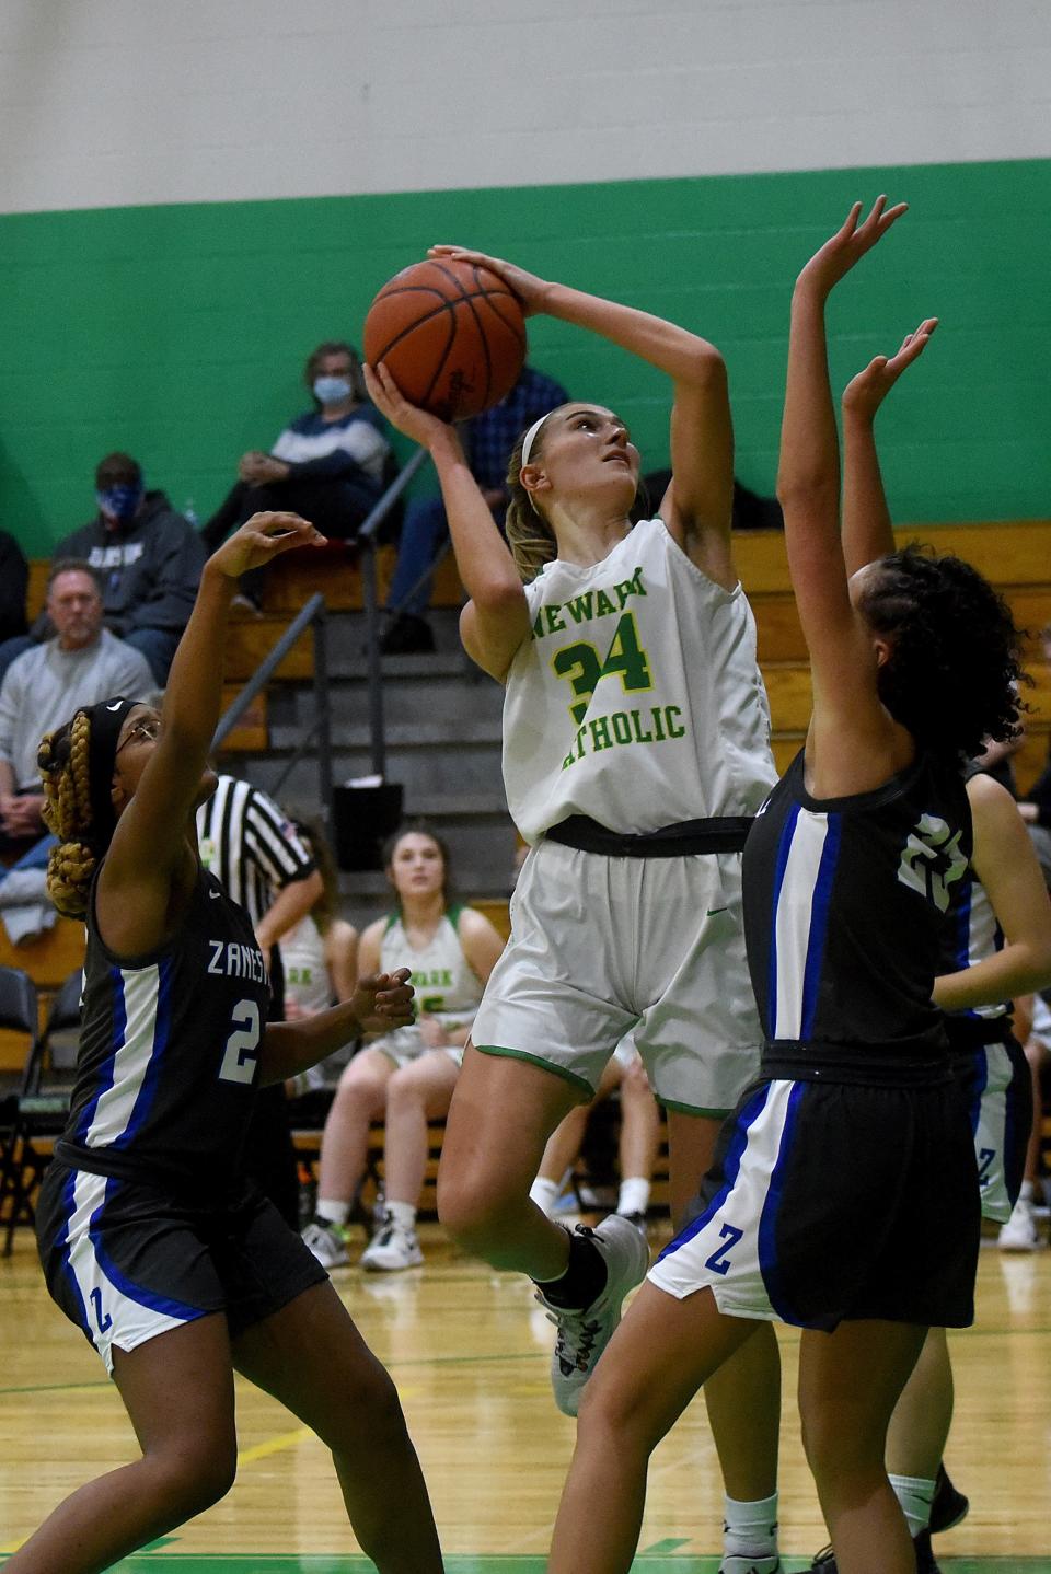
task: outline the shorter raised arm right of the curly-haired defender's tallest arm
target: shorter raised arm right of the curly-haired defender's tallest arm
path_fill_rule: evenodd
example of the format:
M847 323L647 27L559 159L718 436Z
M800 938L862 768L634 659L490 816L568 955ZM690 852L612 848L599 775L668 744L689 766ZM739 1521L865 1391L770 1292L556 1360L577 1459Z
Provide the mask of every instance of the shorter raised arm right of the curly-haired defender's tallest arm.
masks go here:
M876 356L843 389L843 557L846 573L894 551L894 527L876 453L876 411L906 367L922 356L938 318L906 334L897 356Z

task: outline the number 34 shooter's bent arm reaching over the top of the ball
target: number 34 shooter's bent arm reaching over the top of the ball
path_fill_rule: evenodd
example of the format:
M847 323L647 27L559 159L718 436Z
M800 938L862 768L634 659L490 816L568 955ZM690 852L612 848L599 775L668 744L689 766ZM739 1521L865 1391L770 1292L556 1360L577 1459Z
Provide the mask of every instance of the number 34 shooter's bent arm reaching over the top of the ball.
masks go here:
M499 274L526 315L574 323L647 360L672 379L672 485L661 515L699 568L732 587L730 510L733 505L733 425L727 368L706 338L650 312L538 279L485 252L433 246L431 257L455 257Z

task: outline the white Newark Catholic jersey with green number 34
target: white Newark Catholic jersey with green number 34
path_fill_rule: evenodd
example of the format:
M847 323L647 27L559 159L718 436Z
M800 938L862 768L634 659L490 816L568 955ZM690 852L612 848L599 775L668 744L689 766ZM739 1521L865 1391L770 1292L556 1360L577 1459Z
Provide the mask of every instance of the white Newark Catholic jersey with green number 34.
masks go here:
M503 785L527 842L571 814L610 831L754 814L777 778L755 620L644 519L590 568L526 586L503 699Z

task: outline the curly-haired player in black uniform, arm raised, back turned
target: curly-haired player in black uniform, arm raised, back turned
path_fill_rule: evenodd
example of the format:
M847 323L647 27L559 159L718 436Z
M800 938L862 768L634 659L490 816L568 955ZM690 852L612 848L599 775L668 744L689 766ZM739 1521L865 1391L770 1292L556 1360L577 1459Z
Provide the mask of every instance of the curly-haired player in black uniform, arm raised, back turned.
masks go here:
M840 1574L916 1571L887 1423L927 1328L971 1321L979 1240L971 1130L931 990L971 855L960 767L985 735L1013 732L1018 639L957 559L905 551L848 573L843 556L824 304L903 211L880 198L859 224L857 205L796 282L779 497L813 716L744 852L763 1067L697 1217L585 1390L551 1574L628 1569L651 1450L773 1317L804 1330L804 1445ZM880 398L933 326L880 362ZM846 458L850 496L868 477ZM1005 993L1018 962L1002 965Z

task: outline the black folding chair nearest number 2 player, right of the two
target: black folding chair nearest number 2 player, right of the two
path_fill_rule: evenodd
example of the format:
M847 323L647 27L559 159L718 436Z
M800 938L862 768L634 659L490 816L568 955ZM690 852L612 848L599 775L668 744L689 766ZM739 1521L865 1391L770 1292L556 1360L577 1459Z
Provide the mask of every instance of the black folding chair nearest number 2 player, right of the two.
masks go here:
M31 1044L16 1096L11 1133L9 1196L3 1256L11 1256L17 1225L33 1225L33 1193L52 1155L53 1138L69 1113L80 1037L82 973L77 968L55 995L42 1034ZM46 1138L46 1143L41 1143ZM36 1146L39 1143L39 1146Z

